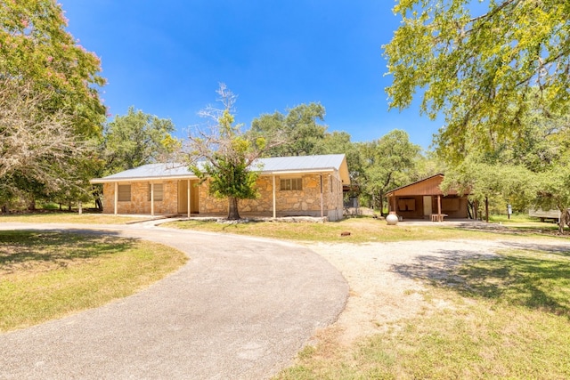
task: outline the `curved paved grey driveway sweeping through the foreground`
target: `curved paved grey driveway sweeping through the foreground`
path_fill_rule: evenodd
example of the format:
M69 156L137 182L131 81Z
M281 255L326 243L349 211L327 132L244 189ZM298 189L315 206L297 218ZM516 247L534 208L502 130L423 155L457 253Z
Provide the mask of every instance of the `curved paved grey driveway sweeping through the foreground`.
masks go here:
M0 335L2 379L260 379L337 319L345 279L305 247L149 225L0 223L0 230L104 231L191 260L140 293Z

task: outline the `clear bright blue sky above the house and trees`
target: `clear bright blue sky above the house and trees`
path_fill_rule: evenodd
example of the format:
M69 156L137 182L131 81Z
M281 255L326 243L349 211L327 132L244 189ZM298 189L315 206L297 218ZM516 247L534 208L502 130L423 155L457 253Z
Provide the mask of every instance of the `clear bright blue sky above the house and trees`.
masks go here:
M428 149L442 121L417 106L388 112L382 44L399 25L390 0L60 0L69 32L102 59L111 115L129 106L170 118L176 135L203 123L225 83L236 121L321 102L328 131L352 141L403 129ZM416 102L417 104L417 102Z

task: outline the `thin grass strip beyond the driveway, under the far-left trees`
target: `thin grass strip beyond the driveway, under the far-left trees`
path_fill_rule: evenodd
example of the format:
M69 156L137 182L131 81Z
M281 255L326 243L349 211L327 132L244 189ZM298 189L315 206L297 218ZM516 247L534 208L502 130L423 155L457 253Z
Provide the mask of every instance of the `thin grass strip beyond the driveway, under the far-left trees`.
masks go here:
M83 224L125 224L140 221L141 217L110 214L77 214L61 211L26 214L0 214L1 222L29 223L83 223Z

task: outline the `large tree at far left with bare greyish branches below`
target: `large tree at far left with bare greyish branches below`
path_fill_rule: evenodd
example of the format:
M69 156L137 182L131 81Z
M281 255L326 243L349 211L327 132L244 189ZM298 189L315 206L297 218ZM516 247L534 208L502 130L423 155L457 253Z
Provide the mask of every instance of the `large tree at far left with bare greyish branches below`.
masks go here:
M0 198L78 194L101 138L101 62L53 0L0 3Z

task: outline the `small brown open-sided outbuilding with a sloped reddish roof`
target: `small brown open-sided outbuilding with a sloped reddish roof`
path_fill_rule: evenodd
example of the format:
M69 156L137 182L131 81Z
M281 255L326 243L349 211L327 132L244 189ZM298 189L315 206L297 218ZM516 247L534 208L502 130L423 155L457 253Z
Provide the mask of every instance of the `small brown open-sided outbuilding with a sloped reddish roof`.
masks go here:
M389 211L403 219L431 219L434 222L442 222L444 218L468 218L467 195L461 197L454 190L444 194L439 188L443 181L444 174L436 174L388 191Z

